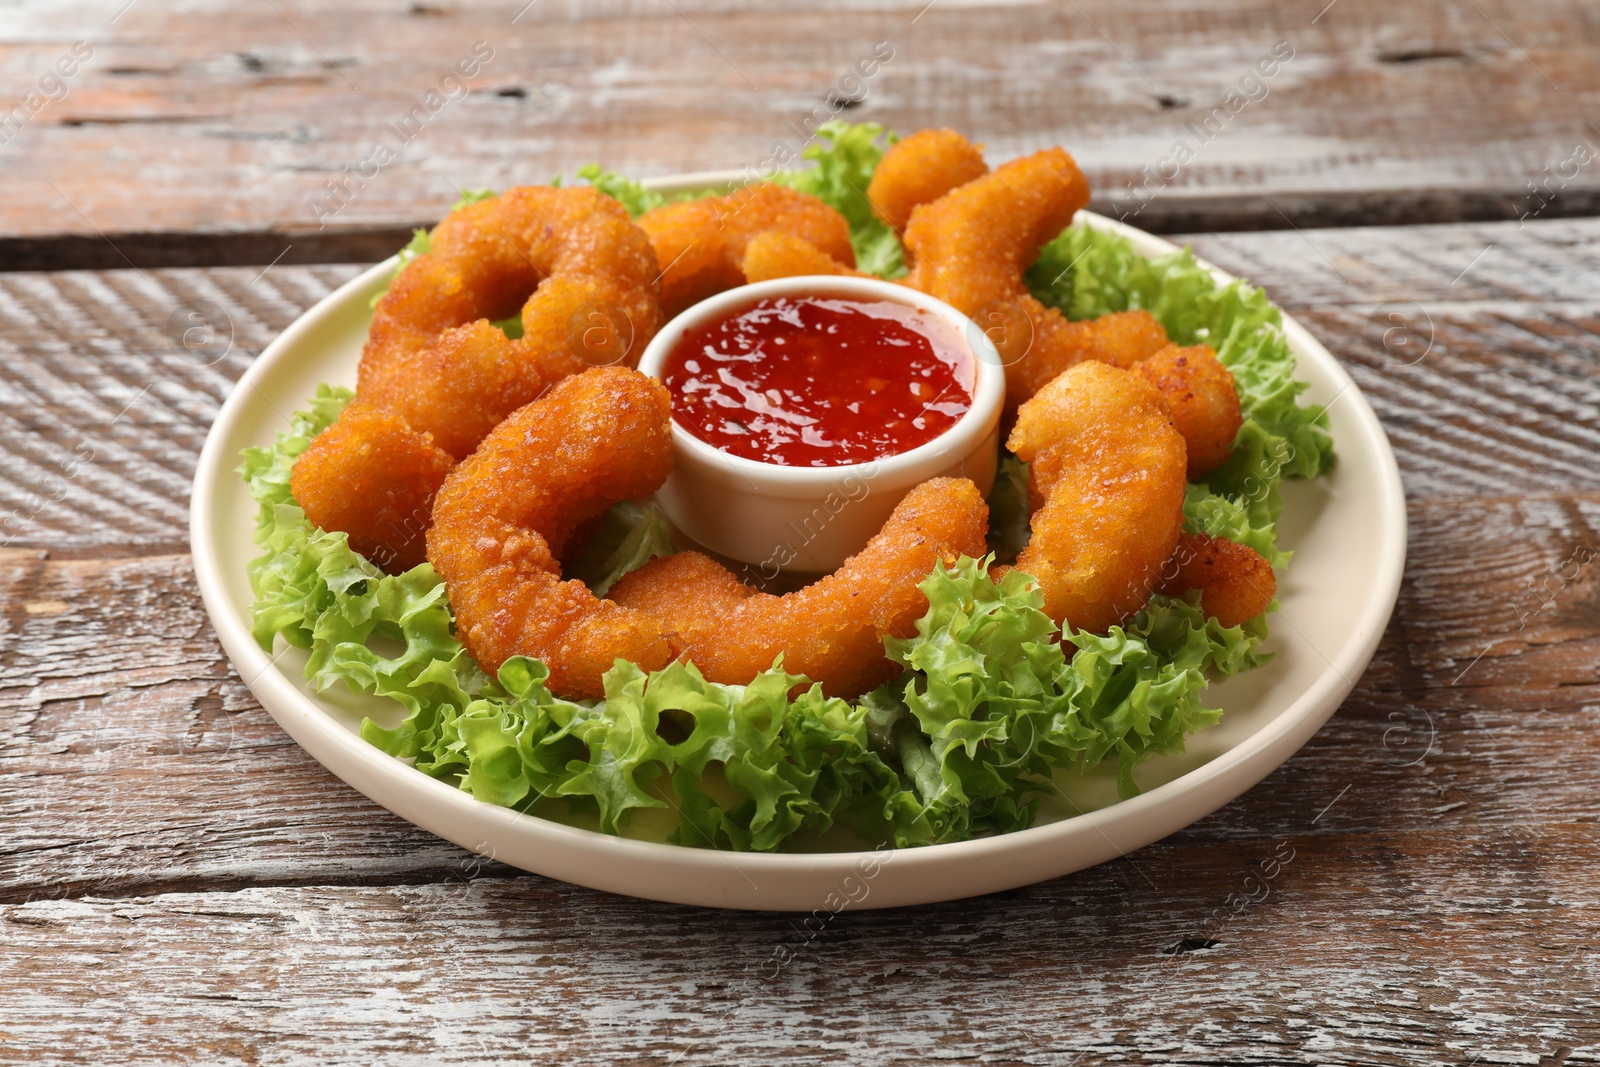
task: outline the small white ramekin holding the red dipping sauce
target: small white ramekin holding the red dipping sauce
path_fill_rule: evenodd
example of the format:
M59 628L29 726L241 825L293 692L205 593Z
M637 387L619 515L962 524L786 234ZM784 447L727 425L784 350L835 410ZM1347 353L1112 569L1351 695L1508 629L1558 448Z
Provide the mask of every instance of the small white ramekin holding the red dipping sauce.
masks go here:
M782 467L730 456L674 421L674 469L656 491L656 501L680 531L712 552L749 563L770 581L779 571L837 569L872 539L901 498L928 478L971 478L984 496L989 494L1000 448L1005 368L973 320L902 285L803 275L728 290L662 326L640 357L638 370L661 378L667 355L685 331L779 296L894 301L944 322L965 342L971 358L973 406L925 445L843 467Z

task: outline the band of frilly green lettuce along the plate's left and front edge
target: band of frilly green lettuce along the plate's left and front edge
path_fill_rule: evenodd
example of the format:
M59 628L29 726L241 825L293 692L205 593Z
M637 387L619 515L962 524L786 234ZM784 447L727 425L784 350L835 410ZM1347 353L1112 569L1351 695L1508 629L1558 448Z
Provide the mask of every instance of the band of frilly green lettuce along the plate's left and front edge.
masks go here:
M342 681L398 701L398 726L366 720L362 736L490 803L565 805L611 833L637 808L669 808L672 840L736 849L835 824L896 845L1013 830L1032 821L1058 768L1115 758L1122 792L1138 792L1142 758L1181 750L1221 713L1200 702L1206 672L1261 659L1259 621L1222 629L1165 597L1126 627L1064 646L1026 576L997 585L987 560L963 557L923 582L930 608L915 637L886 643L906 673L861 701L824 697L781 662L739 686L690 664L646 673L621 661L605 699L566 701L531 659L486 677L453 633L432 566L384 574L294 504L294 458L349 395L318 389L274 445L245 453L266 549L250 568L256 640L309 649L317 689ZM659 517L635 507L614 522L630 515L597 585L661 547Z

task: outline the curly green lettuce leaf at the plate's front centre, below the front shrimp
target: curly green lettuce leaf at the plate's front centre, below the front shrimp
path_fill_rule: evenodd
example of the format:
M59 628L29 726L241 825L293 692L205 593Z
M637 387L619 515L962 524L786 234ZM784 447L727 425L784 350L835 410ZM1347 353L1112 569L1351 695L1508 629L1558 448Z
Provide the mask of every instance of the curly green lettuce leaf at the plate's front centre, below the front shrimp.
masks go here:
M610 833L635 809L672 808L672 840L757 851L837 817L882 833L915 808L867 745L862 709L781 665L730 686L693 664L646 673L619 661L605 699L584 702L552 696L546 680L542 664L514 657L499 673L506 697L451 717L446 744L466 768L464 790L523 811L579 800Z

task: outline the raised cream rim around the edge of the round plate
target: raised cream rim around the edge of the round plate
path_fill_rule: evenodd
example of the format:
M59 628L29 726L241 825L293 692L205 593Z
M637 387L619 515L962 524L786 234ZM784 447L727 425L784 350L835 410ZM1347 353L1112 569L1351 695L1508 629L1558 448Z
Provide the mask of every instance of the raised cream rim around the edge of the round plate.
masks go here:
M659 178L643 184L664 192L674 192L728 184L739 179L742 179L741 171L706 171ZM1179 250L1171 242L1096 213L1080 211L1074 222L1085 222L1094 229L1128 237L1141 254L1147 258ZM238 616L237 606L229 600L218 558L219 547L208 522L216 507L222 480L237 478L234 474L237 458L227 451L222 442L230 437L232 427L243 418L250 397L259 390L259 382L269 378L274 365L285 352L291 352L304 334L314 333L318 318L342 307L346 301L357 294L365 296L381 277L387 277L397 259L398 256L390 256L374 264L317 301L290 323L283 333L274 338L234 384L218 410L211 429L206 432L206 440L195 466L194 491L190 496L190 553L206 614L218 632L218 638L234 670L242 681L250 678L245 681L246 688L251 689L262 707L296 744L306 749L314 760L334 776L381 806L462 848L480 854L494 854L494 848L485 853L485 846L491 845L493 835L478 837L478 833L491 821L501 821L506 825L515 827L517 832L530 835L534 845L562 853L558 857L552 854L549 862L544 862L541 856L539 867L542 869L531 867L528 862L520 862L518 859L498 856L512 865L534 870L534 873L595 889L666 902L803 912L814 910L824 904L830 910L856 910L962 899L1082 870L1107 859L1125 856L1190 825L1243 795L1280 766L1331 718L1344 697L1354 689L1355 681L1376 654L1378 643L1382 640L1389 617L1398 600L1408 537L1405 493L1394 448L1376 413L1349 371L1293 315L1283 312L1283 331L1290 339L1296 358L1310 357L1322 363L1322 370L1330 371L1339 387L1336 395L1352 394L1344 398L1344 403L1350 403L1355 408L1357 421L1365 424L1363 429L1374 437L1378 445L1378 467L1382 475L1382 485L1378 486L1376 499L1381 504L1379 518L1384 552L1382 558L1373 568L1374 581L1370 587L1371 592L1365 598L1357 614L1357 622L1352 627L1352 633L1358 633L1360 640L1346 641L1333 657L1323 656L1326 665L1317 678L1301 689L1272 721L1234 747L1170 782L1163 782L1138 797L1120 800L1106 808L1011 833L904 849L728 853L714 848L613 837L496 805L486 805L350 734L331 715L323 712L314 699L306 697L294 688L285 673L277 669L275 657L269 657L256 645L248 625ZM1208 269L1222 285L1234 280L1234 275L1203 259L1197 258L1197 262ZM242 517L242 522L248 522L248 518ZM333 766L330 760L323 758L323 745L333 745L339 750L342 757L339 760L341 766ZM1230 781L1219 789L1219 779ZM402 797L397 801L394 795L373 795L374 792L381 792L382 787L398 789L408 793L408 797ZM1210 800L1184 806L1184 798L1194 800L1197 797L1210 797ZM1173 811L1178 813L1176 817L1173 817ZM1165 817L1162 817L1163 814ZM467 829L470 832L454 832ZM1088 837L1090 832L1101 840L1094 841L1093 837ZM1117 833L1122 840L1112 840L1112 833ZM1074 838L1080 838L1075 841L1078 848L1066 861L1056 857L1040 864L1035 859L1032 864L1018 864L1010 872L1003 865L992 862L1018 849L1038 849L1046 856L1069 853L1072 849L1061 846L1070 843ZM1085 841L1088 848L1083 848ZM565 854L570 849L576 849L578 854L584 854L597 862L573 862L574 857ZM838 907L832 907L818 893L819 886L837 886L842 878L848 880L851 872L856 872L858 878L875 877L891 859L894 885L880 886L883 891L864 894L861 899L846 897ZM629 878L614 872L608 873L616 864L629 867L637 864L646 864L646 867L666 864L670 869L677 869L680 881L685 875L720 873L725 864L731 864L749 881L750 889L749 893L739 888L733 893L726 889L717 893L699 891L694 886L683 889L667 885L662 885L659 891L650 891L648 885L643 889L637 885L621 888ZM947 864L987 865L990 873L981 878L982 886L976 889L962 889L957 893L923 891L925 885L931 880L922 875L931 873L933 869ZM872 875L861 873L867 867L870 867ZM1040 870L1045 870L1045 873L1040 873ZM805 886L798 886L798 883L797 886L770 885L766 889L762 889L755 885L752 875L770 875L773 878L803 875L800 881ZM707 886L707 889L712 889L712 886Z

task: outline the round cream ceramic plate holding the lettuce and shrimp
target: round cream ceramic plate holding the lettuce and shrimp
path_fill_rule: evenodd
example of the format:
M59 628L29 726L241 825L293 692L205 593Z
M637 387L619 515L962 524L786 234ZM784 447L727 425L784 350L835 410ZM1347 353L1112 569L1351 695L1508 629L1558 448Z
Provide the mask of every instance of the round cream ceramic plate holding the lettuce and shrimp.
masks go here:
M661 189L699 189L736 174L693 174ZM1098 214L1149 256L1173 245ZM392 721L395 705L342 691L314 693L304 653L280 643L269 657L250 635L246 561L256 506L234 474L248 445L270 443L318 382L355 384L371 318L368 301L392 270L374 266L320 301L267 346L222 405L195 472L190 542L206 611L240 678L323 766L416 825L525 870L630 896L709 907L842 910L898 907L994 893L1054 878L1131 853L1221 808L1266 777L1333 715L1366 669L1389 621L1405 565L1400 472L1378 418L1339 363L1298 322L1283 328L1330 405L1339 462L1317 482L1285 486L1280 523L1294 560L1272 616L1277 659L1214 685L1222 721L1187 752L1141 765L1144 793L1117 800L1112 768L1062 776L1066 795L1016 833L877 853L749 854L616 838L480 803L360 739L363 715ZM1230 277L1213 269L1221 282ZM1270 282L1266 278L1262 282Z

